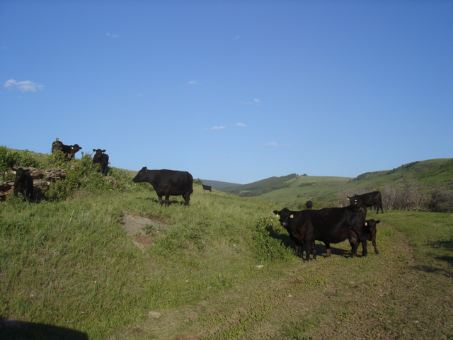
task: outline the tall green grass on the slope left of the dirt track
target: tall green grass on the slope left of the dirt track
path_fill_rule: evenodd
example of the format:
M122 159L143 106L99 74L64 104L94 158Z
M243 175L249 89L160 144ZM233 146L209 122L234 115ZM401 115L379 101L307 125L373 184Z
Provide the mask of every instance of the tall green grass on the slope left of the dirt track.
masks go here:
M268 203L196 187L190 207L175 198L166 208L149 188L1 204L1 316L105 339L151 310L251 280L258 264L290 253L280 241L256 251L268 242ZM125 211L166 222L147 251L122 229Z

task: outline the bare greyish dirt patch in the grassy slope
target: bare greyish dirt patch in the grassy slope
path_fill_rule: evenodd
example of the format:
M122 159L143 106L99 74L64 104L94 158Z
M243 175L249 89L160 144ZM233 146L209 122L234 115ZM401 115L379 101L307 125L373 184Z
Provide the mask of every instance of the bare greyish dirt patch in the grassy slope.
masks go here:
M161 228L168 227L162 220L142 217L127 211L122 215L121 225L126 230L127 236L132 238L132 242L143 251L159 237Z

